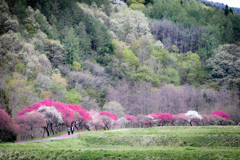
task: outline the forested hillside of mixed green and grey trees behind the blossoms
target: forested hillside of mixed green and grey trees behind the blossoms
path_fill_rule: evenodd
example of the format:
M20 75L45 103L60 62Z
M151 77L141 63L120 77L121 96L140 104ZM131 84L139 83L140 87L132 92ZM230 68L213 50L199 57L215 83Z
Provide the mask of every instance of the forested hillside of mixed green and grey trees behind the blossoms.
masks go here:
M0 0L0 109L52 99L240 120L240 15L196 0Z

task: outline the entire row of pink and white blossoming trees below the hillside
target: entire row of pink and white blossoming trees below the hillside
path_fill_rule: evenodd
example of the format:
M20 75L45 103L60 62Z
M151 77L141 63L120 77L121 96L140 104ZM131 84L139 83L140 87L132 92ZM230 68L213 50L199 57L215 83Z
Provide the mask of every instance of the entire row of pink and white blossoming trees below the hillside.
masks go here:
M199 115L188 111L172 115L170 113L153 113L149 115L126 115L118 119L108 111L97 112L85 110L80 105L64 104L44 100L25 107L18 112L13 123L4 110L0 110L0 140L9 141L18 134L19 139L49 136L74 126L77 130L99 130L117 127L153 127L164 125L215 125L232 124L230 116L223 111L210 115Z

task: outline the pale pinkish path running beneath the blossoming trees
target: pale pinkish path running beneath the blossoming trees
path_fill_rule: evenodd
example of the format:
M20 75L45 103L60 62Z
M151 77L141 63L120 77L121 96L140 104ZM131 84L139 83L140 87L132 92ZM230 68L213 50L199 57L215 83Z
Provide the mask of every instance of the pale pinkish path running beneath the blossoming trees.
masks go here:
M110 130L110 131L105 131L105 132L117 132L117 131L126 131L129 129L116 129L116 130ZM74 134L68 135L68 134L63 134L57 137L52 137L52 138L46 138L46 139L39 139L39 140L33 140L33 141L23 141L23 142L17 142L17 143L33 143L33 142L46 142L46 141L51 141L51 140L58 140L58 139L65 139L65 138L72 138L75 137L76 135L79 134L84 134L86 132L76 132ZM100 132L103 133L103 132Z

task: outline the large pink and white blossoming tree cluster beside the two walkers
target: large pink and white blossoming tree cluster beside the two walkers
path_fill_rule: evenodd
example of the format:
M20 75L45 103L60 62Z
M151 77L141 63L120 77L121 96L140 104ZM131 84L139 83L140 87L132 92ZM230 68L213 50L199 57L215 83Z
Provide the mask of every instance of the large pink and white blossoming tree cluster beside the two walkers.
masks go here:
M18 112L16 124L21 139L26 139L39 137L39 134L49 136L66 130L66 127L89 131L110 129L117 119L114 113L107 111L87 111L80 105L45 100Z

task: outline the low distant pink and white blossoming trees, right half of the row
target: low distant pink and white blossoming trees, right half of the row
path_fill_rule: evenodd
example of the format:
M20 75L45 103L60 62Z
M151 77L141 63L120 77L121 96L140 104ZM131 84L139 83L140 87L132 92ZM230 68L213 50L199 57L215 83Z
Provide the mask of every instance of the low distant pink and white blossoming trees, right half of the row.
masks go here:
M126 115L118 119L118 124L121 127L153 127L154 125L230 125L234 122L224 111L214 111L210 115L199 115L196 111L188 111L177 115L170 113L153 113L145 116Z

